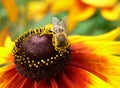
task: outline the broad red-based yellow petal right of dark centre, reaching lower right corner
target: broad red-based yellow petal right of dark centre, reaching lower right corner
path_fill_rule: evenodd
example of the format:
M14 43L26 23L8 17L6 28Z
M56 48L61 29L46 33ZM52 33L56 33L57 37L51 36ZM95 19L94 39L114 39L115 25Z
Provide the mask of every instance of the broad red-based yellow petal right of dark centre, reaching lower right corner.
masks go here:
M72 44L71 50L73 51L73 59L71 65L83 68L100 77L102 80L106 81L114 88L119 88L118 85L120 82L120 57L114 56L112 55L112 53L111 55L110 53L107 54L107 52L99 53L102 49L95 52L96 49L98 49L100 46L103 46L102 43L99 43L99 45L96 45L95 43L91 45L84 42Z

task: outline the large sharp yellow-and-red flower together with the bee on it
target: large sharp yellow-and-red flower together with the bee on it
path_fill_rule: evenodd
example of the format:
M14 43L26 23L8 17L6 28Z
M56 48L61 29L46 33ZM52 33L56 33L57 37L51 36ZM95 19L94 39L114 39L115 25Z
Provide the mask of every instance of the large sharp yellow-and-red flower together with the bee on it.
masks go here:
M7 64L0 67L0 88L119 88L120 42L114 40L120 28L91 37L66 37L64 28L64 20L55 18L53 25L21 35L14 46L8 37L9 47L0 47L0 62Z

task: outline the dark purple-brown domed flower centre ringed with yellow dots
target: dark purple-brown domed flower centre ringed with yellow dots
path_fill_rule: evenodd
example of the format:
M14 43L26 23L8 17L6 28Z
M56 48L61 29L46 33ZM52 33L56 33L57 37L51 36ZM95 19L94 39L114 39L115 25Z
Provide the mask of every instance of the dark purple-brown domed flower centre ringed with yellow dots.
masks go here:
M70 62L70 45L55 46L55 33L38 28L20 36L13 48L17 71L27 78L40 81L59 75Z

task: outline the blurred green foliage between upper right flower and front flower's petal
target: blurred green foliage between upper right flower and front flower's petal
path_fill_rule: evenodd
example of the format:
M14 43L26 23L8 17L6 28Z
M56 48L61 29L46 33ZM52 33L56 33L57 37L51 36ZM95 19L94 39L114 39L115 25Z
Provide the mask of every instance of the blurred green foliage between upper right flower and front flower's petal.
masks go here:
M100 13L96 13L92 18L79 22L75 30L71 34L81 35L97 35L108 32L119 25L117 21L111 22L103 17Z

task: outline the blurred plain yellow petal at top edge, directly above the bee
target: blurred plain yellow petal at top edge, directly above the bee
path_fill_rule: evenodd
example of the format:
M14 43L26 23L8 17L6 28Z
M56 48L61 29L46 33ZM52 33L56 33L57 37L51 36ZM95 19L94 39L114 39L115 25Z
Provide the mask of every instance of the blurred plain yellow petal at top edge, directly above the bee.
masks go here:
M74 3L75 3L75 0L70 0L70 1L67 1L67 0L56 0L52 4L51 11L54 14L57 14L59 12L67 11L69 9L72 10L72 7L74 7Z

